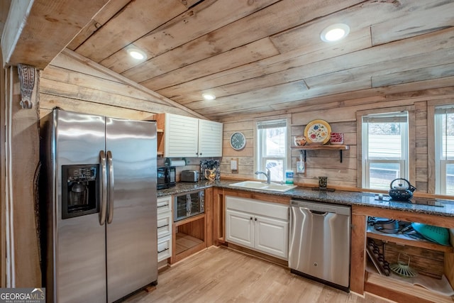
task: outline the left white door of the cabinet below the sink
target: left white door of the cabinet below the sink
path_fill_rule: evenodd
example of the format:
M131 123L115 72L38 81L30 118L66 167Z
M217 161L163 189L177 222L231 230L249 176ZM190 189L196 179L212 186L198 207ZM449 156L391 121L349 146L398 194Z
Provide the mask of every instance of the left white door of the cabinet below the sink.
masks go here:
M226 240L254 248L253 216L240 211L226 211Z

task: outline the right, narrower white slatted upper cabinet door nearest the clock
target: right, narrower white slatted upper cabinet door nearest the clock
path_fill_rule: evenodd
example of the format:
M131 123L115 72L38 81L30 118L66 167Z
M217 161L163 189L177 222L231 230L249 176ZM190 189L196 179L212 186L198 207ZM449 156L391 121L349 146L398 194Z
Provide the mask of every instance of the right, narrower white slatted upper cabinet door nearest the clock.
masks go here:
M199 157L222 157L222 123L199 120Z

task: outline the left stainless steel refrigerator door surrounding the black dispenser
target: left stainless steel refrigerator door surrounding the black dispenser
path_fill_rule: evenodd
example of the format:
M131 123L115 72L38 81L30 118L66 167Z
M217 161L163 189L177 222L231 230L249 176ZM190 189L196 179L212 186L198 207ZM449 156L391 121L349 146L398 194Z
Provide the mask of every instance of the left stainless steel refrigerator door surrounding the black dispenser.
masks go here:
M62 165L99 164L105 119L57 109L52 115L52 146L45 152L55 160L46 168L55 174L56 189L48 216L48 302L106 302L106 229L99 213L62 219Z

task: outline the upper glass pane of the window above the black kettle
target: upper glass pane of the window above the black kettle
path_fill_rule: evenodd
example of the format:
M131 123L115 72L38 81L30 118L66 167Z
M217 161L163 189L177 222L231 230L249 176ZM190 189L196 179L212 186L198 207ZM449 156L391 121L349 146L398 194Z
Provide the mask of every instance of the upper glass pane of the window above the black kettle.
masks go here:
M400 123L369 123L368 158L402 159Z

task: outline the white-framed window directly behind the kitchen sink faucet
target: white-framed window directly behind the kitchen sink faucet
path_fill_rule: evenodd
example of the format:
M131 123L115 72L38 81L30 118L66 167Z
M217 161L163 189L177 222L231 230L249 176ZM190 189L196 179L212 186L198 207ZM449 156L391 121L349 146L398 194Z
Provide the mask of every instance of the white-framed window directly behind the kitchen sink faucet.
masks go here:
M257 163L258 171L271 172L272 181L284 181L284 172L289 159L287 119L257 122ZM262 174L259 179L266 179Z

